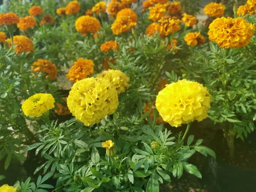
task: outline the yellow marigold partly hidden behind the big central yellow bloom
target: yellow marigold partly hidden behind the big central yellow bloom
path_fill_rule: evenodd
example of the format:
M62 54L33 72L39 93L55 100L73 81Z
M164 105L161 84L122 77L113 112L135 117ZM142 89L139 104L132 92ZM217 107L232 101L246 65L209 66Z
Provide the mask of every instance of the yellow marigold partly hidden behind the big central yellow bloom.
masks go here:
M128 82L130 78L119 70L103 71L97 75L97 78L109 81L116 88L118 94L125 92L129 88Z

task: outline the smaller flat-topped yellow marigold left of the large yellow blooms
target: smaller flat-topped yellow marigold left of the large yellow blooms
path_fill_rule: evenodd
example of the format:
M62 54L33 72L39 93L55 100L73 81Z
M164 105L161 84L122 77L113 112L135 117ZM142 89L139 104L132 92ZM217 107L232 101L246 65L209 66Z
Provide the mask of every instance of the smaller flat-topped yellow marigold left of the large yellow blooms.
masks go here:
M55 100L51 94L36 93L26 99L22 104L22 111L26 116L39 117L48 110L54 108Z

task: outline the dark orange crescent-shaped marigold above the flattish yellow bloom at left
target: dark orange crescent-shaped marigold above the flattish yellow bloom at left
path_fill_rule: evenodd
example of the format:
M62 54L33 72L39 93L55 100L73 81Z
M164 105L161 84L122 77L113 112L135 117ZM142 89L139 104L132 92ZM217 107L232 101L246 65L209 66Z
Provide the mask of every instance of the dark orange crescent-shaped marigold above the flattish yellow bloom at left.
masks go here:
M49 79L53 81L57 77L57 67L51 61L46 59L38 59L31 65L31 70L35 73L46 73Z

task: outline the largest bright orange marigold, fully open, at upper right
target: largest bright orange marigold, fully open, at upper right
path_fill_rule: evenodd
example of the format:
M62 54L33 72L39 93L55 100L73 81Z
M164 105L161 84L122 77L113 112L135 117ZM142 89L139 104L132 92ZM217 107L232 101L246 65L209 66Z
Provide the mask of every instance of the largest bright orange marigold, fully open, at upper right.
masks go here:
M241 17L221 17L215 19L209 26L209 40L226 49L247 46L253 37L255 25L247 23Z

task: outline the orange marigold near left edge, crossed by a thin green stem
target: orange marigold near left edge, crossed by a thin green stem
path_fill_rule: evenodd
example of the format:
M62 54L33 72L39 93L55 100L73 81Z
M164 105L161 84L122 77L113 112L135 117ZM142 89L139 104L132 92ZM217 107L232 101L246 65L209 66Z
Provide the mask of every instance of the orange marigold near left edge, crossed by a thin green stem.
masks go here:
M12 46L11 39L6 39L6 42L9 44L9 47ZM33 42L23 35L15 35L13 37L13 44L15 45L15 52L20 55L23 51L32 52L34 50Z

